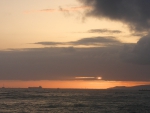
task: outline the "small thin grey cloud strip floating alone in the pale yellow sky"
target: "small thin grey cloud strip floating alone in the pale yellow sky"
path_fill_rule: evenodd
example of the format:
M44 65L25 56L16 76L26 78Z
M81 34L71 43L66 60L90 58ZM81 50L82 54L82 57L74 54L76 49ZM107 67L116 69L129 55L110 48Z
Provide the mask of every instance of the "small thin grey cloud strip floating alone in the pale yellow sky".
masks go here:
M108 29L91 29L88 33L122 33L120 30L108 30Z

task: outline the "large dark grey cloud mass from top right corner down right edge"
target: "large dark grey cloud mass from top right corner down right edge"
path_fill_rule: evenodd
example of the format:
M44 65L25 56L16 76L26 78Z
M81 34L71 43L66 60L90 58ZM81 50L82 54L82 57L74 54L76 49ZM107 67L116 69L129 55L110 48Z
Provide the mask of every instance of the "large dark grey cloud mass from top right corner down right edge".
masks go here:
M85 6L91 7L91 10L86 12L87 16L124 22L131 30L135 31L134 36L141 36L142 38L137 44L126 44L120 50L120 56L123 61L130 64L150 65L150 35L145 36L150 30L149 0L79 1Z

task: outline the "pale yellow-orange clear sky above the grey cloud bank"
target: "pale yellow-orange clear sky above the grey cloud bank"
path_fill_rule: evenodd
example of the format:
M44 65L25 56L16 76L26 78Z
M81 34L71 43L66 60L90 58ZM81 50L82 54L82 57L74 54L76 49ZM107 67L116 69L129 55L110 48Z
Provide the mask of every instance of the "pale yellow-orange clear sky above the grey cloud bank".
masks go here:
M139 39L137 36L128 38L131 33L121 22L94 18L84 20L81 15L88 8L77 0L0 1L0 50L34 48L37 46L31 43L42 41L66 42L110 35L87 33L90 29L119 29L123 32L111 35L122 42L135 43Z

